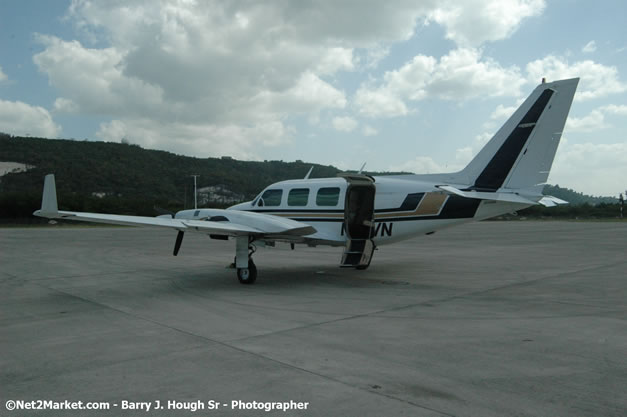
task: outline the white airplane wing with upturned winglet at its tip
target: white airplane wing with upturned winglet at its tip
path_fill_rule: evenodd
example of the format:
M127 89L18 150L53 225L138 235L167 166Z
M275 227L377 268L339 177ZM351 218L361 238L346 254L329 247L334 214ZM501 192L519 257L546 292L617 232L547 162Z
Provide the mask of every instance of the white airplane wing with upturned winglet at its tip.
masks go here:
M262 213L235 212L234 210L213 210L223 212L228 221L205 221L175 219L159 216L124 216L118 214L83 213L62 211L57 207L57 193L54 175L46 175L41 209L33 214L49 219L66 219L94 223L120 224L140 227L165 227L179 232L194 231L223 236L273 236L294 237L316 233L310 225L295 220L285 219Z

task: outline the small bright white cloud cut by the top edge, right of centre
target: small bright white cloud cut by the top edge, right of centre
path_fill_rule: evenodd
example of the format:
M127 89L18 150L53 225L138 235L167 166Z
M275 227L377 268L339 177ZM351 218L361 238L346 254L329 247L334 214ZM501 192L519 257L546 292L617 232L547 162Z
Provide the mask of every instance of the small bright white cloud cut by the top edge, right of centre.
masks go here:
M544 0L440 1L429 18L446 29L446 37L461 46L508 38L523 19L538 16Z

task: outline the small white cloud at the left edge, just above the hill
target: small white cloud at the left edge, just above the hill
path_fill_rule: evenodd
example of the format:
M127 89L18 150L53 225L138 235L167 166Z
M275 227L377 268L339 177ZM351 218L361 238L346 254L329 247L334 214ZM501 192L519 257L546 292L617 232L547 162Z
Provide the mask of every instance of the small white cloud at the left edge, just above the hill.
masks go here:
M61 127L48 110L21 101L0 100L0 132L18 136L57 137Z

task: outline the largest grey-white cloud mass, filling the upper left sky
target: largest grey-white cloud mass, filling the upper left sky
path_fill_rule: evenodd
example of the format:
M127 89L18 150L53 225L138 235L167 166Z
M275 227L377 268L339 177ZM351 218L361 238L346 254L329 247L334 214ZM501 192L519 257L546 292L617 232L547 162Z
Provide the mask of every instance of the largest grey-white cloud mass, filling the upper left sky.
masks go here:
M345 108L345 93L331 80L358 69L356 49L367 57L363 65L376 64L432 7L373 1L356 18L354 5L331 1L77 0L73 23L107 46L39 35L45 49L33 60L59 91L57 112L106 116L134 130L146 120L185 126L182 136L202 132L204 143L204 135L234 127L282 125L296 114L315 123L318 113ZM251 154L266 143L240 137L250 138Z

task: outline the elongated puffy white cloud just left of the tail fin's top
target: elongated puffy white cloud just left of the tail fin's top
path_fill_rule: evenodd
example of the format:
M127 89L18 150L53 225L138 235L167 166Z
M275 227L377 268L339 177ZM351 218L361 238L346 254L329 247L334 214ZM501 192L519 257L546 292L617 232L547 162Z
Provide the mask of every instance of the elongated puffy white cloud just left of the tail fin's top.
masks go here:
M477 49L455 49L440 60L417 55L398 70L387 71L384 83L363 84L355 94L359 112L371 117L402 116L406 101L427 97L467 100L474 97L517 96L525 84L517 67L503 68Z

